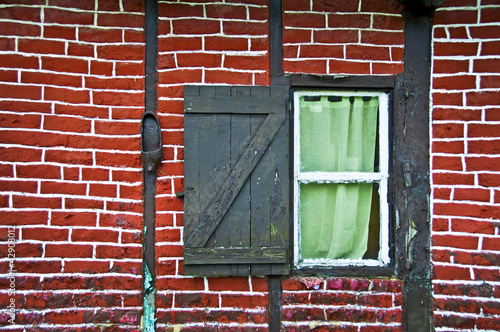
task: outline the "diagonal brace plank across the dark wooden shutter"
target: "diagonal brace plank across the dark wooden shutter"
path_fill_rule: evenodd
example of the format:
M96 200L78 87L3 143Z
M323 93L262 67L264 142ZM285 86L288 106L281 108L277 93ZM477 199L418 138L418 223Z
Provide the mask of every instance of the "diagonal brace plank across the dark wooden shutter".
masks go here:
M203 217L196 225L194 232L186 241L188 247L203 247L212 235L220 220L229 209L234 198L240 191L245 180L262 157L267 146L274 138L285 119L284 114L269 114L238 161L223 187L205 211Z

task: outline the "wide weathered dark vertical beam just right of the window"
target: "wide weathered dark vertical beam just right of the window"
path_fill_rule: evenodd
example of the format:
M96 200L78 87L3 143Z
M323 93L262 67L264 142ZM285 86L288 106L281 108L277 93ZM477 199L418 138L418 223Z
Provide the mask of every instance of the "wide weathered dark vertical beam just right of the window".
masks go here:
M404 280L403 329L432 331L429 94L432 14L405 12L405 64L394 94L396 257Z

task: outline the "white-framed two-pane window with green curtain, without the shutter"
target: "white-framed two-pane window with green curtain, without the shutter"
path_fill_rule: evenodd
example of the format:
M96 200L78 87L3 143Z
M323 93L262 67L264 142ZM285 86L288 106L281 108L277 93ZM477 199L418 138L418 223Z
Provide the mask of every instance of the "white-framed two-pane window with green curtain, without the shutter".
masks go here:
M388 265L388 94L293 98L294 264Z

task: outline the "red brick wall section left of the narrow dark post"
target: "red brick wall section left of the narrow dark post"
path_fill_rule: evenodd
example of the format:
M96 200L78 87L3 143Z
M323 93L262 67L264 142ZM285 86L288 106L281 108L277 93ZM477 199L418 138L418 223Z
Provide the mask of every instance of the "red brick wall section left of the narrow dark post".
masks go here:
M0 5L0 303L13 225L16 322L31 331L139 325L143 12L139 0Z

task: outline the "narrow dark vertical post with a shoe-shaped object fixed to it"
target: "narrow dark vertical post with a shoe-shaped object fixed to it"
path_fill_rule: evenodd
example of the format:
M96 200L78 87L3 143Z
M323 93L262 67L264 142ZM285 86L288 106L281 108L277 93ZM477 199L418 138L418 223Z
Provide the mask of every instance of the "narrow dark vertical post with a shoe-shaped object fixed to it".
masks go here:
M141 118L141 160L144 166L143 331L154 332L156 323L155 214L156 170L163 158L161 128L156 109L158 58L158 2L145 0L145 110Z

